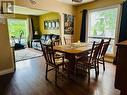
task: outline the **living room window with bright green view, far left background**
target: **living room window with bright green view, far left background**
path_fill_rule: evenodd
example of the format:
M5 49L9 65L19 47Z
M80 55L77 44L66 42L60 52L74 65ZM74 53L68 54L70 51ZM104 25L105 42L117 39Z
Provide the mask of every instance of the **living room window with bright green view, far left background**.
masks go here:
M10 43L27 45L28 23L25 19L8 19Z

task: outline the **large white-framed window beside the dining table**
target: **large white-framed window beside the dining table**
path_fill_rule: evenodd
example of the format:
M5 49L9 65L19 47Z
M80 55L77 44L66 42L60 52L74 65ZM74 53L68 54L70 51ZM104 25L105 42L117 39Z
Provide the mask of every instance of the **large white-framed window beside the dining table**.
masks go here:
M118 10L118 7L111 7L89 12L88 42L111 38L108 54L114 54Z

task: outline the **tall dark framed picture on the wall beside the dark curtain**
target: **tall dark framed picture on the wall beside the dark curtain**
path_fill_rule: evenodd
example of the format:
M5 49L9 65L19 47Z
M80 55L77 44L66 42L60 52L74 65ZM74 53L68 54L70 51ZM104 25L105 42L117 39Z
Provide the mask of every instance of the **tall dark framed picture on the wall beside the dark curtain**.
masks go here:
M64 34L72 35L74 32L74 16L64 14Z

